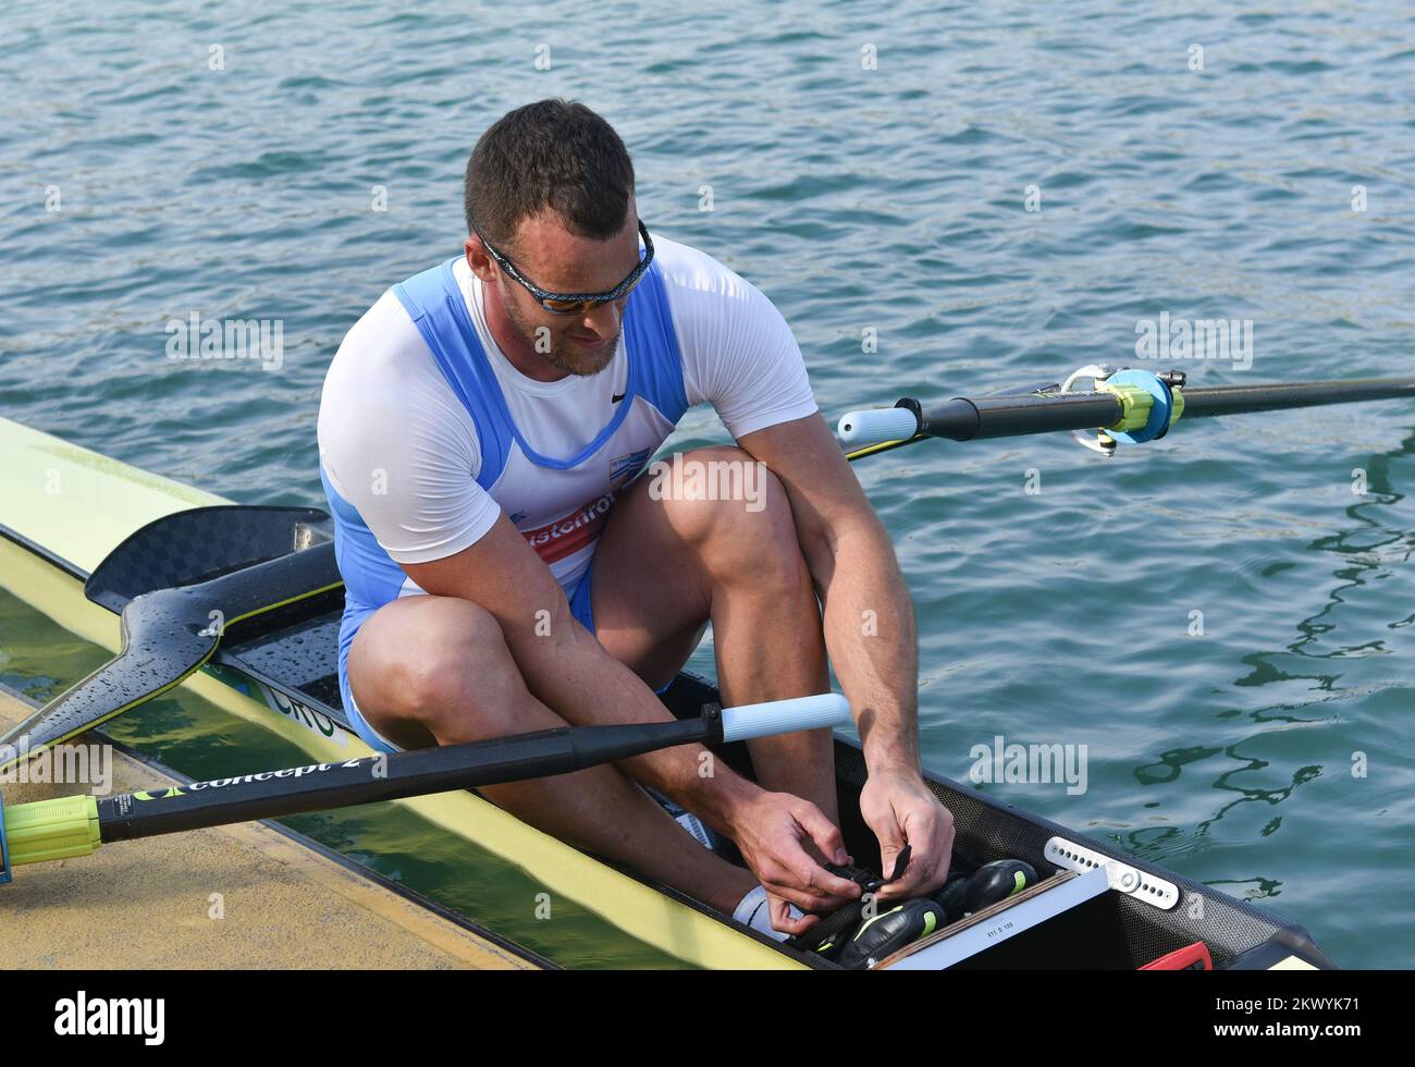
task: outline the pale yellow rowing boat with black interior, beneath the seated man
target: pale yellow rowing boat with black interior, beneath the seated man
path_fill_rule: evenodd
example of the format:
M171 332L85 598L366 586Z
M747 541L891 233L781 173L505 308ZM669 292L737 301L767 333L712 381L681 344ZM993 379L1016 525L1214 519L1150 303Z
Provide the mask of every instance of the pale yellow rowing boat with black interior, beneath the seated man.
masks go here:
M275 559L328 567L328 517L314 508L235 505L0 419L0 586L67 630L116 650L119 614L136 596ZM294 743L314 760L369 754L344 715L335 676L340 587L232 627L183 685L222 710ZM681 717L716 699L681 675L665 693ZM724 759L750 773L744 749ZM842 831L857 862L879 853L859 812L860 750L835 743ZM1214 965L1324 968L1305 930L1105 842L928 775L954 814L958 855L1022 859L1040 884L938 931L883 967L1133 969L1203 942ZM471 791L396 801L522 867L550 893L633 937L709 968L824 968L706 906L582 853Z

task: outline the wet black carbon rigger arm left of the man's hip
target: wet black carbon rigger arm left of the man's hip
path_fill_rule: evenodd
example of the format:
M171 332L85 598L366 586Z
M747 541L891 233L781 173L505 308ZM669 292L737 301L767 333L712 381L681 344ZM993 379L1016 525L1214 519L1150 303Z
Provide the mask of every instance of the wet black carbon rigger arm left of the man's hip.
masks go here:
M133 597L123 607L119 654L0 737L0 770L180 685L215 655L231 627L341 584L334 543L325 542Z

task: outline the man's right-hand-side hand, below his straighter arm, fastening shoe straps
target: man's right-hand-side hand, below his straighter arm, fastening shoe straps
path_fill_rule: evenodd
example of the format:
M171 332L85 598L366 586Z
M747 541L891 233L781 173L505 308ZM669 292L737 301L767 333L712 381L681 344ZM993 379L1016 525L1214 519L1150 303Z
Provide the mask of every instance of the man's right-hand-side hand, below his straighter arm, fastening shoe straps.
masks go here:
M903 877L880 887L874 894L880 901L928 896L944 884L954 850L954 817L918 771L870 770L860 790L860 814L879 838L884 877L893 873L904 845L910 846Z

